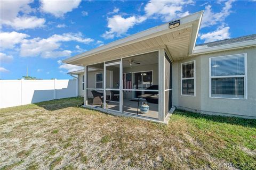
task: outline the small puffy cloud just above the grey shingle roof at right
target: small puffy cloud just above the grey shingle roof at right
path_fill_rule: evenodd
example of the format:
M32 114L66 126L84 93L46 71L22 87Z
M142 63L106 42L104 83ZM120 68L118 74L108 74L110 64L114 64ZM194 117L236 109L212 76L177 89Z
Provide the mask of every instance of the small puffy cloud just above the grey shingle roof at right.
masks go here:
M210 43L213 41L218 41L218 40L228 39L228 38L230 38L229 27L224 27L224 25L221 25L215 31L200 35L200 39L204 40L204 43Z

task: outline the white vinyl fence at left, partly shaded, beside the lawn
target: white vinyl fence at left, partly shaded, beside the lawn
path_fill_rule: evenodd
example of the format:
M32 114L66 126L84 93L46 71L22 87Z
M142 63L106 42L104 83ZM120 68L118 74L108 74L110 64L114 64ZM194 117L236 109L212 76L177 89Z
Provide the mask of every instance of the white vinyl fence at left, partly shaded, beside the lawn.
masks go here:
M0 108L78 96L78 81L0 80Z

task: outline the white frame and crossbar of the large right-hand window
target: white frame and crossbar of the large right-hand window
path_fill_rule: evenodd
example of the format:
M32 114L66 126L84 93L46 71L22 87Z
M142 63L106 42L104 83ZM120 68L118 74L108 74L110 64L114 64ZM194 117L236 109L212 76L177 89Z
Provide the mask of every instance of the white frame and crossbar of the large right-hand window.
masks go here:
M221 75L221 76L212 76L211 68L211 58L221 58L221 57L232 57L237 55L244 55L244 75ZM212 97L212 79L213 78L244 78L244 98L232 98L232 97ZM238 100L247 100L247 53L234 54L234 55L225 55L218 57L209 58L209 97L210 98L220 98L220 99L238 99Z

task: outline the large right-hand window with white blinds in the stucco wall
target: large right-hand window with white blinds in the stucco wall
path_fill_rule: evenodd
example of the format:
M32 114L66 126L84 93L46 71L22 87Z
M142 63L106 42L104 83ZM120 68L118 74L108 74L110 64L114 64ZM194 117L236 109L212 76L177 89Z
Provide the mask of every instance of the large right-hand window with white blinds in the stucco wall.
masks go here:
M210 58L210 97L246 99L246 54Z

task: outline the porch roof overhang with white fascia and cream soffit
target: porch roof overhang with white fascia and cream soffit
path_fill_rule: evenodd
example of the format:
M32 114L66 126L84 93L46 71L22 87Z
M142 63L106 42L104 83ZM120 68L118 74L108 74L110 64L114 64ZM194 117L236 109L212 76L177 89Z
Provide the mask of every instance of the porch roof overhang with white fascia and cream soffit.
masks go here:
M169 28L169 23L150 28L63 60L74 65L91 65L117 58L165 48L173 61L183 60L192 54L203 11L187 15L178 27Z

